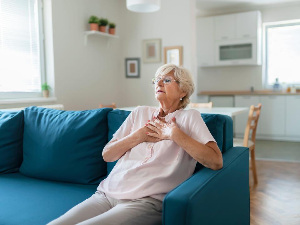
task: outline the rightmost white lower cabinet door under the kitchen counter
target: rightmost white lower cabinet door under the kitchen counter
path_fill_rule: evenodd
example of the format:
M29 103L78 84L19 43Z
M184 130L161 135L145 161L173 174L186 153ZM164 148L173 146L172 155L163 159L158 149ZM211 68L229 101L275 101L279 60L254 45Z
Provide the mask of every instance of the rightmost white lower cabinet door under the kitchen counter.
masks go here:
M287 96L286 99L286 133L300 136L300 95Z

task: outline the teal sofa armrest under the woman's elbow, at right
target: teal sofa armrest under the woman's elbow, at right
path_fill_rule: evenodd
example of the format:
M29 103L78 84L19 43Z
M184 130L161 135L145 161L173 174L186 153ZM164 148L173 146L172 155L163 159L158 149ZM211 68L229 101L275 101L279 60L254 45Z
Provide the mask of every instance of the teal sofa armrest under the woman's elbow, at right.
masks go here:
M163 199L163 224L250 224L249 148L223 154L220 170L202 168Z

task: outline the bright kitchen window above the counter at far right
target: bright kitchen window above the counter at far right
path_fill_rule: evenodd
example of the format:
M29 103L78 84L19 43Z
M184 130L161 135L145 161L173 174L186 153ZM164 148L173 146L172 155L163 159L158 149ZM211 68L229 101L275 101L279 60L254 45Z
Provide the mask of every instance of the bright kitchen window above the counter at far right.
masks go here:
M300 84L300 20L263 23L264 84Z

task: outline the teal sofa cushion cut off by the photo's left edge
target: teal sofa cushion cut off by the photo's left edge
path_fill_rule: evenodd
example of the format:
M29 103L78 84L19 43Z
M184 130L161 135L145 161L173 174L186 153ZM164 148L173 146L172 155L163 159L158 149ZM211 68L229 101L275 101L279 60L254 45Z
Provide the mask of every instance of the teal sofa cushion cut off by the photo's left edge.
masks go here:
M0 111L0 174L19 170L22 163L24 114Z

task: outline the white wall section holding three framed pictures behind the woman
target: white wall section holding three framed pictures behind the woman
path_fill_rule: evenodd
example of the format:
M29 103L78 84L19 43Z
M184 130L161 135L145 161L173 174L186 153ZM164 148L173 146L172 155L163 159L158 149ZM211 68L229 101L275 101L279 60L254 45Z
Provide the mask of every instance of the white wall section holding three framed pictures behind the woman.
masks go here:
M121 17L122 59L119 74L120 106L153 105L157 106L151 78L163 63L163 47L183 46L183 66L190 69L196 76L195 65L195 2L193 0L161 1L161 9L152 13L137 13L126 9L126 1L122 1ZM161 38L161 62L143 63L142 40ZM125 78L125 58L141 58L140 78ZM196 96L196 92L195 92Z

